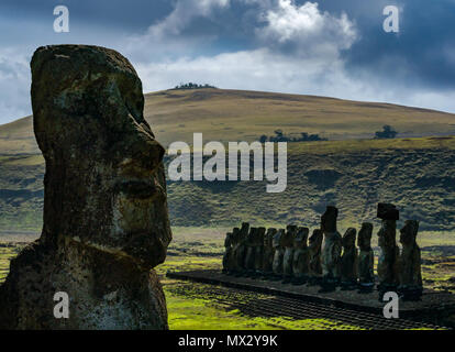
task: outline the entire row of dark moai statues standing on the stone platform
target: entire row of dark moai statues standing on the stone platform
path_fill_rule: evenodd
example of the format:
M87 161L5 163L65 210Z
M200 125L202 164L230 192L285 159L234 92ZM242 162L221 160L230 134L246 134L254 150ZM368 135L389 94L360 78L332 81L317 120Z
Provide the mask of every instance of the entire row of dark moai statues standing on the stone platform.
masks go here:
M320 229L288 226L285 229L234 228L225 238L223 272L236 276L262 277L284 284L321 285L322 290L359 289L370 293L375 287L371 249L373 223L360 230L346 230L342 237L336 228L339 210L328 207ZM419 222L407 220L400 230L402 250L397 245L399 211L393 205L379 204L378 232L381 250L377 264L380 299L387 292L397 292L404 299L419 299L422 294L421 256L415 242ZM358 249L356 248L356 240ZM323 243L324 242L324 243Z

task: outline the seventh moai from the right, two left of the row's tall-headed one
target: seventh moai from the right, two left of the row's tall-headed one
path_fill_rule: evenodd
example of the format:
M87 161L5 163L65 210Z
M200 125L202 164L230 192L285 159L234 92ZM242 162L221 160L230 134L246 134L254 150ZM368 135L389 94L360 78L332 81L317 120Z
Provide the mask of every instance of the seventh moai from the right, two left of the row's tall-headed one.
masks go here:
M297 235L293 240L293 258L292 258L292 284L303 285L310 270L310 251L308 249L308 228L298 228Z

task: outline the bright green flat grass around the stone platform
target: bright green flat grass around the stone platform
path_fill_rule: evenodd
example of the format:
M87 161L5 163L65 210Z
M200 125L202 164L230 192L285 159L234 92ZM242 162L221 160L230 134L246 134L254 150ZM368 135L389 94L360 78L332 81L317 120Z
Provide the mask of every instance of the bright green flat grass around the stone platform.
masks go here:
M167 278L167 271L221 270L223 241L228 228L174 228L174 240L166 262L157 266L166 294L170 329L312 329L312 330L357 330L359 327L343 324L330 319L293 320L289 317L251 317L236 309L220 305L208 294L209 286ZM21 234L0 237L0 283L9 271L9 261L24 243ZM9 244L5 243L9 241ZM422 274L424 286L455 294L455 233L423 232L418 240L422 248ZM377 237L373 244L378 252ZM259 299L259 294L254 294ZM240 297L242 300L251 296Z

